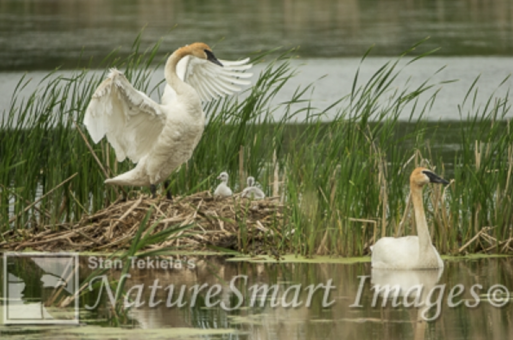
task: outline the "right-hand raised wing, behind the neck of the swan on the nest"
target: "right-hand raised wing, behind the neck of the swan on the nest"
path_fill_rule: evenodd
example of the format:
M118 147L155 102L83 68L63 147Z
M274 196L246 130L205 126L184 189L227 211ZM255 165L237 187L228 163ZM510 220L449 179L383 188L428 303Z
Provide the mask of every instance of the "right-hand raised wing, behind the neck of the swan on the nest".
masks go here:
M247 78L253 74L245 72L253 66L248 64L249 58L235 62L220 59L220 62L223 67L188 55L176 65L176 74L196 89L202 102L239 92L240 86L251 84ZM174 96L174 90L166 84L162 104L168 104Z

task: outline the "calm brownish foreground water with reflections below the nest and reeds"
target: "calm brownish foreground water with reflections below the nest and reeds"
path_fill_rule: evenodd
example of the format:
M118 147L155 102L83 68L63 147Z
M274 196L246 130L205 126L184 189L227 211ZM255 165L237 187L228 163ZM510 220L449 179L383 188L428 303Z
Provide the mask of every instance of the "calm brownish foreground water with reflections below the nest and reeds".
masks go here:
M97 260L95 260L97 263ZM333 259L328 260L333 261ZM81 258L81 283L91 272L91 262ZM103 293L98 307L86 312L86 305L95 305L98 290L88 292L81 299L81 326L38 328L30 326L0 326L2 338L25 332L24 338L123 338L135 339L144 335L152 338L219 338L219 339L506 339L513 337L513 304L507 300L503 307L494 307L489 301L490 287L503 285L508 290L513 282L513 262L510 258L484 258L475 260L446 260L443 272L438 271L387 271L372 272L370 263L261 263L225 262L219 258L194 259L194 268L184 265L181 269L134 269L127 282L134 300L141 291L139 308L129 309L120 315L120 325L115 325L112 313L108 310L108 298ZM23 266L22 266L23 268ZM21 272L12 270L9 275L26 279L25 283L37 287L38 282L28 282ZM234 277L247 277L247 281L237 279L234 288L230 282ZM109 279L119 278L120 271L111 270ZM400 305L392 307L392 299L385 300L374 296L375 284L399 284L403 288L423 285L432 295L423 295L429 308L426 315L433 321L422 321L424 309L405 307L403 298ZM251 301L252 285L267 284L278 287L278 300L273 300L272 291L266 296L259 293L258 302ZM329 295L324 290L314 293L309 308L305 287L308 285L332 287ZM157 288L152 293L152 285ZM175 292L180 287L186 290L184 307L166 307L168 291L173 285ZM192 306L192 289L195 285L205 285L196 296ZM222 287L218 297L208 299L207 290L215 285ZM451 298L450 291L461 285L462 293ZM294 300L296 288L300 287L298 307L283 308L281 303L272 307L272 301L281 301L287 289L285 302ZM141 288L142 287L142 288ZM159 288L160 287L160 288ZM36 289L36 288L34 288ZM298 288L299 289L299 288ZM472 295L471 290L475 295ZM221 308L235 306L227 311ZM29 293L26 293L29 295ZM265 295L265 294L264 294ZM178 294L172 301L176 302ZM265 299L263 306L261 299ZM332 303L323 308L323 299ZM373 303L373 299L376 302ZM156 307L148 304L162 301ZM218 301L218 305L207 307L208 301ZM411 299L413 301L413 299ZM449 302L458 302L457 307L449 307ZM502 301L502 300L501 300ZM497 304L497 301L493 301ZM374 306L373 306L374 304ZM467 307L468 304L471 307ZM439 308L439 310L438 310ZM436 314L439 314L436 317ZM117 330L117 331L116 331ZM37 331L37 333L34 333ZM21 338L21 336L20 336Z

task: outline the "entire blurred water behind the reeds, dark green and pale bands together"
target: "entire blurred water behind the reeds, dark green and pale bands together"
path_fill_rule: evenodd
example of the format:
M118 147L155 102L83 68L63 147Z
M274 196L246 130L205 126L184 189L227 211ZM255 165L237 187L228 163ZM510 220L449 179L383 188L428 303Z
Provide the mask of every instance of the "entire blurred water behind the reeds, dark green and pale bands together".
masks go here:
M321 108L349 93L371 46L362 82L425 37L430 38L413 55L440 48L412 64L398 83L411 77L414 86L446 67L433 80L459 81L439 93L428 116L435 120L460 118L458 104L477 76L478 99L485 101L513 68L513 3L508 0L0 0L0 111L9 107L24 72L30 71L35 87L57 67L101 67L114 49L128 54L143 28L142 49L164 38L159 57L194 41L207 42L224 59L299 47L298 77L277 100L326 76L312 95ZM157 74L155 83L161 80ZM505 95L510 85L508 80L496 95Z

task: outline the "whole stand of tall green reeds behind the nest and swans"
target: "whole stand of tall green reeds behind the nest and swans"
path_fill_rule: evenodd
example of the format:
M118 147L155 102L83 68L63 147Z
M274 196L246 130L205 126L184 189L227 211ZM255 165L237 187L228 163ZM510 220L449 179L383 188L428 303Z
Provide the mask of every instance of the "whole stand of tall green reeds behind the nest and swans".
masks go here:
M116 57L115 51L106 57L102 74L51 72L28 97L18 93L30 79L20 79L0 122L0 245L30 237L34 230L71 228L120 197L122 190L103 182L133 165L117 163L105 141L94 145L83 134L82 121L110 67L125 72L141 91L159 93L149 79L163 62L155 57L160 42L146 51L139 50L139 42L128 57ZM225 170L239 192L253 175L266 195L284 206L285 218L275 219L267 235L278 253L359 256L381 236L415 232L407 178L413 167L423 165L451 180L424 195L430 234L441 254L511 252L509 93L481 103L476 101L479 79L468 84L455 108L461 119L451 122L458 142L452 142L455 151L447 157L433 150L448 138L444 127L424 119L443 82L428 78L416 86L397 84L404 68L433 52L412 57L411 50L391 58L364 83L354 70L350 93L324 109L308 105L313 84L298 85L286 102L273 100L294 82L294 51L254 55L253 63L266 65L257 81L242 96L205 108L203 137L190 161L170 177L172 191L187 196L212 190ZM399 121L405 110L410 113L407 130ZM328 111L334 118L325 122L321 117ZM306 118L297 122L300 114ZM127 189L135 199L149 194Z

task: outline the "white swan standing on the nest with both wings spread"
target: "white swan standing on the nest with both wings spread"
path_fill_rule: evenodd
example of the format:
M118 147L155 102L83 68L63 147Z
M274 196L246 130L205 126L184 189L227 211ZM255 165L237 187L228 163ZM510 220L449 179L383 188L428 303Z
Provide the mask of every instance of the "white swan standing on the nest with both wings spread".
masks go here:
M84 124L94 143L106 135L117 161L128 157L137 166L105 183L150 186L155 197L155 185L186 162L200 141L205 126L202 100L250 84L241 79L251 76L244 73L251 67L248 60L222 64L204 43L177 49L165 65L162 104L137 91L122 72L111 69L91 98ZM169 190L167 197L171 198Z

